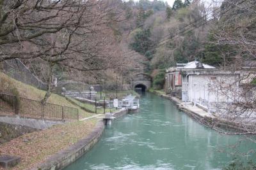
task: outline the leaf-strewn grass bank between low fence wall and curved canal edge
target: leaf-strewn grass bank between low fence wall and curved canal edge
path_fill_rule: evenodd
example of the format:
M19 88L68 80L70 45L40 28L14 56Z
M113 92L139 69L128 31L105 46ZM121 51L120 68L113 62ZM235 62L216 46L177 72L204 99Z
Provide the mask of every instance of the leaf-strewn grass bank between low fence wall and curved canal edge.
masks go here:
M12 169L29 169L49 155L77 143L92 132L97 119L76 121L65 125L54 125L43 131L24 134L0 145L0 155L16 155L21 162ZM3 168L0 167L2 170Z

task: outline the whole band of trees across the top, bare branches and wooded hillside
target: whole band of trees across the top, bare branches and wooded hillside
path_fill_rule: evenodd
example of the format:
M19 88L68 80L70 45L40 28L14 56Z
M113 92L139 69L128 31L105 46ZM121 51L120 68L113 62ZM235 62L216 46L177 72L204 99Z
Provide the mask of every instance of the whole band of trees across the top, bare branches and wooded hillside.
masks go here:
M104 80L106 88L122 90L143 72L162 89L165 69L177 62L236 70L255 60L253 0L0 4L0 61L20 59L45 82L54 74L60 81Z

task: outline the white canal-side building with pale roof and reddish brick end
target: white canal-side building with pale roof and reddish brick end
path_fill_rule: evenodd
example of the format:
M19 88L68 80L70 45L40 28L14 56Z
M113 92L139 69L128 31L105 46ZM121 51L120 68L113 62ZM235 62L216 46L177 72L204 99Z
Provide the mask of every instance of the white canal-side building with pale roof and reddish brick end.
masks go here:
M172 92L182 101L211 107L232 102L232 91L239 90L239 73L220 71L198 61L177 64L166 70L166 92ZM180 83L177 83L181 80ZM225 88L223 88L225 87Z

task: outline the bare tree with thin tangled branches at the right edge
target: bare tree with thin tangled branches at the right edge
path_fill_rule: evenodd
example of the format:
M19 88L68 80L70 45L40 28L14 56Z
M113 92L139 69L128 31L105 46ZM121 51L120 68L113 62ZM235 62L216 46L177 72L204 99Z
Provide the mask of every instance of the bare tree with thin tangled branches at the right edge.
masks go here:
M234 123L234 127L241 130L227 132L218 128L218 122L205 122L212 129L224 134L256 134L255 10L255 1L225 0L221 4L221 17L216 20L216 41L212 43L219 45L227 70L240 75L232 81L219 78L211 85L211 92L224 98L224 102L217 103L216 116L221 121ZM227 46L232 48L225 50ZM236 55L232 55L233 58L230 59L230 53Z

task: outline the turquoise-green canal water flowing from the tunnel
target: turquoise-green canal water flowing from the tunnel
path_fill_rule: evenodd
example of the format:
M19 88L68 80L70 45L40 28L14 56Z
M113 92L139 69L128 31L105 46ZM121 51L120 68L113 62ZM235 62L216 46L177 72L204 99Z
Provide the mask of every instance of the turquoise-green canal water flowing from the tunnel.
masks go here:
M65 169L221 169L237 152L223 148L244 139L203 127L154 94L143 95L140 105L140 113L115 120L90 152ZM236 148L244 153L255 146L242 140Z

